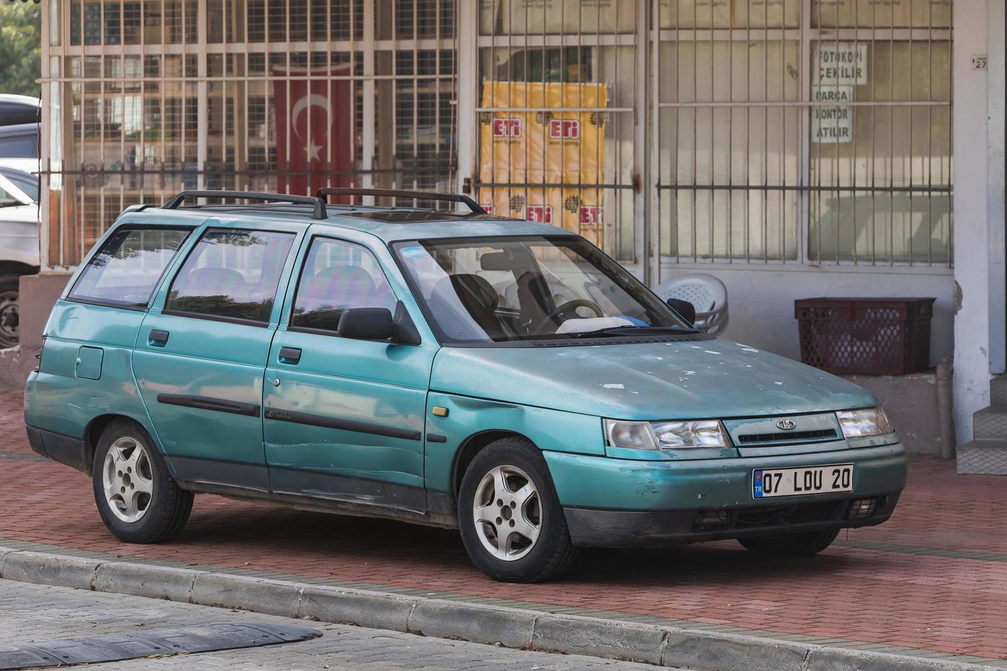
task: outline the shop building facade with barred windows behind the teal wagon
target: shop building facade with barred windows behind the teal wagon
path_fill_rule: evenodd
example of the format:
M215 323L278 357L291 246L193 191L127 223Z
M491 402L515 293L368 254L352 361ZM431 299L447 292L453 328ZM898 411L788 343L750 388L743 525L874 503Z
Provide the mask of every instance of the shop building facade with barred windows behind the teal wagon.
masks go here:
M185 188L464 191L793 357L795 299L937 298L960 440L1004 371L1002 0L43 4L47 273Z

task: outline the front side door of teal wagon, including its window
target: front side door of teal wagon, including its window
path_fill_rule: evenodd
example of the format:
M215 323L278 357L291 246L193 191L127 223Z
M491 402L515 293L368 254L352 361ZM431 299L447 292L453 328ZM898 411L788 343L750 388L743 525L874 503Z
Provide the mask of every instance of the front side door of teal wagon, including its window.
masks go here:
M424 412L437 345L429 334L407 345L335 332L349 308L406 309L404 283L391 274L393 288L375 251L392 270L378 245L325 234L305 240L266 369L266 460L276 493L423 511Z

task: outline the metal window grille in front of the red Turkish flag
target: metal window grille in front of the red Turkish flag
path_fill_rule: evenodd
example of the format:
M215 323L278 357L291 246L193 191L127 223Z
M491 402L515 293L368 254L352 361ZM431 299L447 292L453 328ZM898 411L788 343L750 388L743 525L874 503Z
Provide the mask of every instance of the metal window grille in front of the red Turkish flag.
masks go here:
M183 188L453 188L454 0L50 0L43 245Z

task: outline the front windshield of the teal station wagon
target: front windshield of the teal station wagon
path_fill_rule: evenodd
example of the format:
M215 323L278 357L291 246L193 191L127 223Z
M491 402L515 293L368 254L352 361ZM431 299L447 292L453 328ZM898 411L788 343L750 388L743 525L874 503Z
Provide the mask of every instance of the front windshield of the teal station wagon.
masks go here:
M444 343L695 333L582 237L410 240L393 248Z

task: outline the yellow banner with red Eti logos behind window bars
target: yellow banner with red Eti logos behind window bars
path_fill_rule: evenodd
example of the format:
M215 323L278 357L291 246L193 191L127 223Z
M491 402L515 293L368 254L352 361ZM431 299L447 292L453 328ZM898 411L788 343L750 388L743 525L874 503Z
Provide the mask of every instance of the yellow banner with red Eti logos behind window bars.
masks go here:
M605 113L566 110L607 104L604 83L483 82L482 107L519 111L480 117L479 181L528 186L483 186L482 206L501 216L562 225L600 242L603 193L594 185L604 166Z

